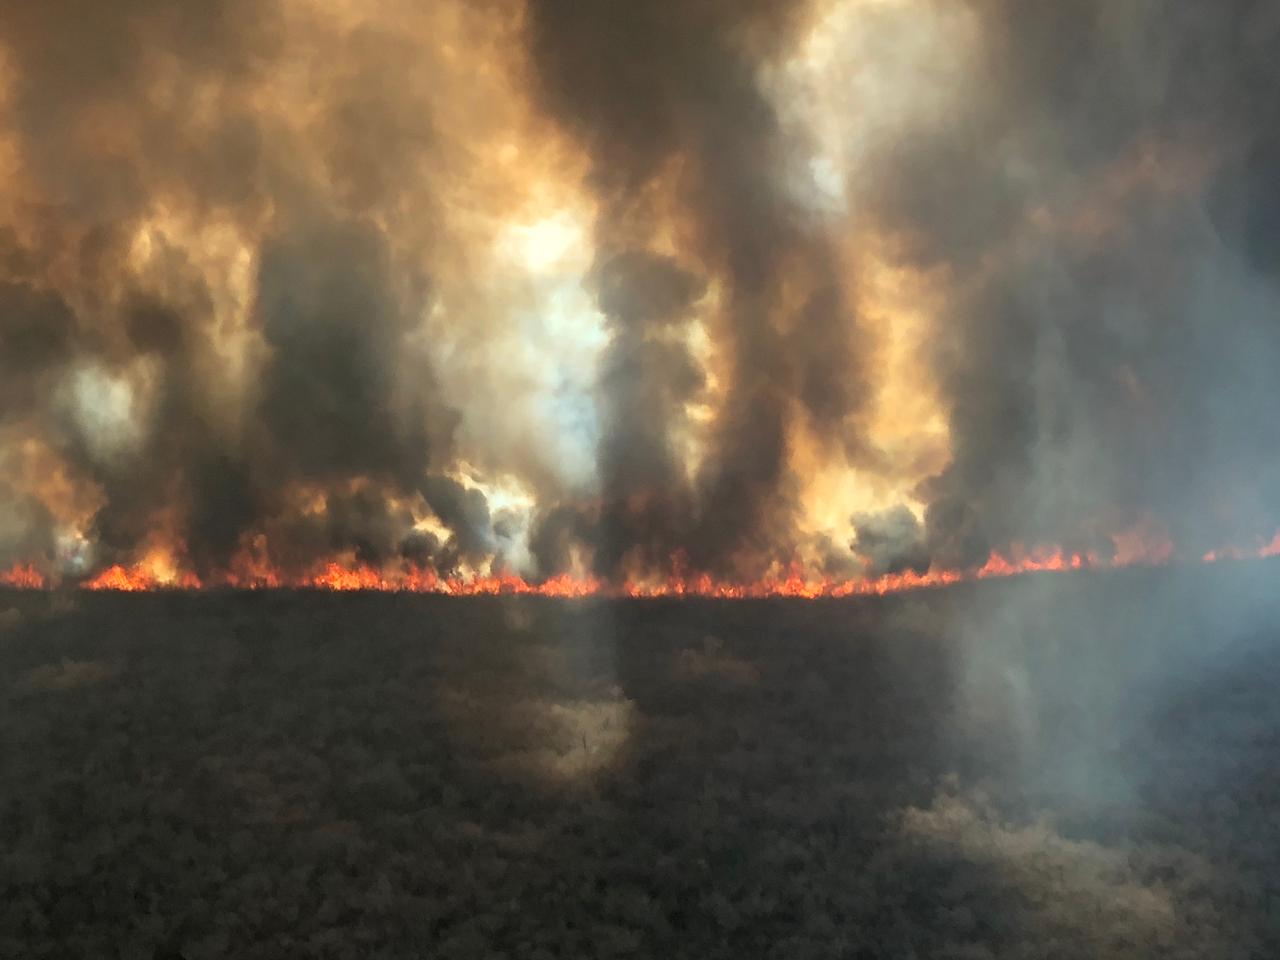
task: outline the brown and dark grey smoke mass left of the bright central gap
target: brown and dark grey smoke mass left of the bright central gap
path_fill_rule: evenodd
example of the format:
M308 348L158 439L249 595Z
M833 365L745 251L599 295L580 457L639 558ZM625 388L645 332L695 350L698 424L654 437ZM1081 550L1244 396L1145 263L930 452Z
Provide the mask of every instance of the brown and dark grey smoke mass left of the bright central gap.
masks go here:
M407 342L429 284L372 220L399 188L381 177L392 159L430 143L425 111L383 96L397 45L366 35L340 95L321 102L335 204L251 102L283 52L274 4L13 3L0 27L26 189L47 198L0 243L0 417L35 429L101 492L92 566L128 562L164 534L204 575L264 530L284 564L394 556L412 517L388 497L419 495L435 458L448 462L454 420ZM124 140L100 142L110 127ZM215 294L183 250L154 238L147 287L125 279L128 238L156 201L255 229L270 218L247 305L259 370L243 413L212 362L227 334ZM88 387L69 398L68 381ZM137 436L93 419L110 389L132 394ZM298 495L320 495L321 513L298 515ZM23 530L46 532L38 549L31 534L5 536L5 558L50 561L51 518L26 502L5 497L27 511Z

